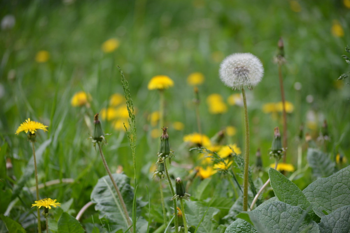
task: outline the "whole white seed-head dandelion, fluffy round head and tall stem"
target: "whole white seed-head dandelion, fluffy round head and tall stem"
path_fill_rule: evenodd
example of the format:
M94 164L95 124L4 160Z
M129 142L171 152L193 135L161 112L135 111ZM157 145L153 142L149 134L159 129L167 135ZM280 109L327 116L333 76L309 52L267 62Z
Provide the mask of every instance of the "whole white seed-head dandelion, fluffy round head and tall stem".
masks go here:
M248 209L248 169L249 169L249 122L247 100L244 87L252 89L264 75L262 63L251 53L234 53L226 57L220 65L220 79L232 89L240 89L243 96L244 123L245 123L245 156L244 156L244 180L243 180L243 211Z

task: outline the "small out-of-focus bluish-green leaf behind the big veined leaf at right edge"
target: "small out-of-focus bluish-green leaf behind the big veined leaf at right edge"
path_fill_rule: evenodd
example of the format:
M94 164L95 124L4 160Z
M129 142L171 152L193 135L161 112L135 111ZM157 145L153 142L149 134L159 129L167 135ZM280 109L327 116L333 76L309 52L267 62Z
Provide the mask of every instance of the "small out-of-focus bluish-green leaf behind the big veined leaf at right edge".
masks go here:
M312 168L313 175L317 179L330 176L335 171L335 163L329 159L327 154L320 150L309 148L307 151L307 161Z

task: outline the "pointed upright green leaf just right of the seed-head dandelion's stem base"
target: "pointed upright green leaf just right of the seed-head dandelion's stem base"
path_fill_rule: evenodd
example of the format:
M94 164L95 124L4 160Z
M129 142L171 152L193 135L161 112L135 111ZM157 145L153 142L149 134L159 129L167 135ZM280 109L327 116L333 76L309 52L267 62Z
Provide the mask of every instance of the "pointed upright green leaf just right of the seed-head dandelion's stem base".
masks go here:
M271 187L273 188L273 192L281 202L285 202L289 205L299 206L303 210L308 209L310 202L306 199L305 195L296 186L296 184L288 180L287 177L273 168L270 168L268 170L268 175L270 177L270 183ZM320 218L311 208L309 209L311 218L314 221L319 222Z

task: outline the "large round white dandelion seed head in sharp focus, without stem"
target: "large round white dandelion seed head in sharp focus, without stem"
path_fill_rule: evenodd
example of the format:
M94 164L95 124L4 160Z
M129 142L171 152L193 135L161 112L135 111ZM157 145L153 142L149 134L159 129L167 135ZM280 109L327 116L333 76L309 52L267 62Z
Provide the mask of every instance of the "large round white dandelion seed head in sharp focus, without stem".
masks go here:
M232 89L249 89L257 85L264 75L262 63L251 53L233 53L220 65L221 81Z

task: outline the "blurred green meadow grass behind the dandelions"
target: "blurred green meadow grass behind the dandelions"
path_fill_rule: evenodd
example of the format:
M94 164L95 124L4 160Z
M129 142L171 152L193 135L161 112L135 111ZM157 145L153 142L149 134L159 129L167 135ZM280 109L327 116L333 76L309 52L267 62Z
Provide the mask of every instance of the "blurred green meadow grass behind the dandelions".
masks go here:
M255 54L265 68L261 83L247 94L251 164L255 151L261 148L264 166L268 167L273 162L268 155L273 128L282 128L282 122L280 112L273 117L262 109L266 103L281 100L278 66L273 62L280 37L287 60L282 67L286 100L294 105L288 114L287 161L296 166L296 137L301 123L305 124L304 132L317 141L324 119L328 122L331 158L342 153L350 159L349 79L337 81L350 70L341 57L349 44L349 0L2 0L0 16L2 20L7 17L0 31L0 170L1 177L13 178L1 184L3 190L22 177L32 156L26 135L14 134L20 123L31 118L49 126L48 133L38 134L36 146L51 139L38 163L40 183L62 178L76 181L75 185L44 188L41 196L57 198L61 203L73 198L72 212L90 201L91 190L105 170L87 140L91 131L84 116L92 121L94 113L108 106L112 94L123 94L117 65L129 82L137 110L138 197L146 200L145 185L155 200L159 195L155 188L152 190L158 186L150 172L159 146L159 139L151 132L158 125L152 126L148 117L159 108L159 93L147 89L155 75L168 75L175 83L165 96L166 125L177 163L192 166L183 136L197 131L193 87L187 83L193 72L205 77L199 86L203 133L212 137L232 125L237 133L226 137L223 144L237 143L244 151L242 108L228 105L227 112L213 115L206 102L213 93L221 94L225 102L231 94L239 93L225 87L218 77L221 61L235 52ZM103 43L111 38L116 39L117 48L103 51ZM39 51L48 52L43 62L38 62ZM295 90L295 82L301 83L300 91ZM81 90L90 93L90 108L71 106L72 96ZM172 127L176 121L184 124L183 130ZM121 165L132 177L131 150L124 132L115 130L112 122L102 124L106 133L112 133L104 149L111 170ZM12 160L12 170L5 168L6 158ZM186 176L190 168L184 167L172 168L174 176ZM297 184L304 188L310 182L311 176ZM34 184L33 176L26 186ZM20 218L21 223L35 218L29 208L35 194L23 195L10 215L20 213L14 218ZM89 210L90 216L96 214L93 208ZM90 221L89 214L86 216L85 221Z

